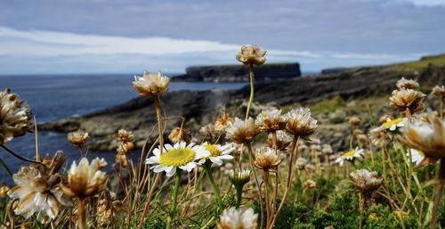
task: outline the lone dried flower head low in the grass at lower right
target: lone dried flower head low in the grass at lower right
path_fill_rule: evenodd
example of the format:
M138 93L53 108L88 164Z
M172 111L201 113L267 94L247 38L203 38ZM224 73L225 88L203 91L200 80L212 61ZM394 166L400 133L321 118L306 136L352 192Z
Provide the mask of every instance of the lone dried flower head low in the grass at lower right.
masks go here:
M382 179L378 178L377 172L369 172L367 169L358 169L350 173L349 178L358 192L373 192L382 185Z

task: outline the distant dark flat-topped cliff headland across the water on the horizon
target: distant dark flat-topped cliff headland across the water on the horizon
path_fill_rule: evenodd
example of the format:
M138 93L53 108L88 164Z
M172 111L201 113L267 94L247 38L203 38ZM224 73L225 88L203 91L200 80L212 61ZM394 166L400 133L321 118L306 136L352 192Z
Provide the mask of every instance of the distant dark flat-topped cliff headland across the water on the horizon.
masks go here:
M257 82L286 80L301 76L299 63L272 63L255 67L255 80ZM243 82L249 81L247 66L239 65L215 65L189 67L186 74L173 78L175 81L198 82Z

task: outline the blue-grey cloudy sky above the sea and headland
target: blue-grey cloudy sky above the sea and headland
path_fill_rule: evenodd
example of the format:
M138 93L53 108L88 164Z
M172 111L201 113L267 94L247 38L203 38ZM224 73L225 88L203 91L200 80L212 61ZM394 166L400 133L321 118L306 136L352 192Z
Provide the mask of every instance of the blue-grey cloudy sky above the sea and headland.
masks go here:
M445 53L445 0L2 0L0 75L237 64L245 44L303 71Z

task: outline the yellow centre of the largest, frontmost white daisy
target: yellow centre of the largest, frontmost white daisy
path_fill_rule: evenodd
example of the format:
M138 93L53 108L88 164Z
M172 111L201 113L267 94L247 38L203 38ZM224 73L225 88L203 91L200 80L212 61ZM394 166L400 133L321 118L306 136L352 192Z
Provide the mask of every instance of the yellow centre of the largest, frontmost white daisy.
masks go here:
M180 167L195 159L195 151L190 148L179 148L166 151L159 157L159 163L166 167Z

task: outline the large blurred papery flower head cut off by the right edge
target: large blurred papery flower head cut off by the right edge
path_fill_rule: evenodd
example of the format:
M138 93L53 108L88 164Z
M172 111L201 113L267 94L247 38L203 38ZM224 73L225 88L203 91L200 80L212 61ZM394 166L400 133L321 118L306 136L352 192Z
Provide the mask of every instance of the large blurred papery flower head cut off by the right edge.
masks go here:
M414 119L402 131L401 142L422 151L426 158L445 158L445 121L433 116L428 122Z

